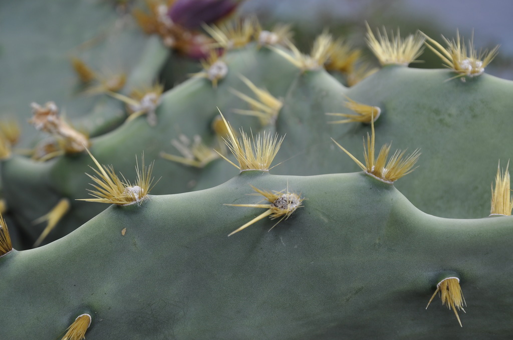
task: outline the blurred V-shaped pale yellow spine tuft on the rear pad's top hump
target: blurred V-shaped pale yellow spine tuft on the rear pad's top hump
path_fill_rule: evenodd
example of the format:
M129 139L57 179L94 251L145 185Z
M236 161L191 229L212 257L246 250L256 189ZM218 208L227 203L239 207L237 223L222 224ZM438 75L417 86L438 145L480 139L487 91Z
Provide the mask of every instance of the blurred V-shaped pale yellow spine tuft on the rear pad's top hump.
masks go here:
M328 60L332 40L333 38L327 32L319 35L313 42L310 55L301 53L290 41L287 41L286 45L292 51L292 55L273 46L270 48L302 71L317 70L324 67Z

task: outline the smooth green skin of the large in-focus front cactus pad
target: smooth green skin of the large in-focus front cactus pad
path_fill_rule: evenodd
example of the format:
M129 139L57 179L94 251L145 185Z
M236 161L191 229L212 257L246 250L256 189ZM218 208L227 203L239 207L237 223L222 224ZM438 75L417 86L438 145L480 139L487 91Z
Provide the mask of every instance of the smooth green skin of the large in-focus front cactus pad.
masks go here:
M304 207L271 231L266 219L227 237L264 211L223 205L257 203L250 184L288 186ZM0 332L59 338L91 312L89 340L506 339L512 237L511 217L432 217L361 173L243 173L111 206L60 240L1 258ZM463 328L438 297L425 310L447 271L461 278Z

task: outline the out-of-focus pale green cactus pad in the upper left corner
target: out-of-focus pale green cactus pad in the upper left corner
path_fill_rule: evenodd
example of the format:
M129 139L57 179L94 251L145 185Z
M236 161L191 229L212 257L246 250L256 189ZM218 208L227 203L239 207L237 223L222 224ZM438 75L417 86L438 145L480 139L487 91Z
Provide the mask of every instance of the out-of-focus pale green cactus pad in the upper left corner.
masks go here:
M145 50L151 50L146 36L128 13L116 12L113 2L2 1L0 117L17 119L25 147L42 138L27 122L31 102L54 101L76 128L91 136L112 130L126 116L123 104L105 95L86 95L71 57L104 76L125 73L129 91L134 82L147 85L137 79L151 83L160 69L147 66L144 78L132 74L144 64Z

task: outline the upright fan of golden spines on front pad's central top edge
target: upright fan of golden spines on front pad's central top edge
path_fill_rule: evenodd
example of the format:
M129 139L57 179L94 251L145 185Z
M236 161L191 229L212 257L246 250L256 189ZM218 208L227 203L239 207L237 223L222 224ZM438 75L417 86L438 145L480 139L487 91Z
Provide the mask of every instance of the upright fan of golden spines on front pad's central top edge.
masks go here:
M218 152L219 155L241 172L248 170L269 171L269 169L272 168L270 166L274 157L278 153L278 150L280 150L284 137L278 139L278 134L272 137L264 131L263 137L260 137L260 135L254 137L251 134L251 138L249 138L241 129L242 139L236 138L230 124L226 121L221 111L219 113L228 130L228 139L225 139L225 143L239 162L239 165L236 165Z

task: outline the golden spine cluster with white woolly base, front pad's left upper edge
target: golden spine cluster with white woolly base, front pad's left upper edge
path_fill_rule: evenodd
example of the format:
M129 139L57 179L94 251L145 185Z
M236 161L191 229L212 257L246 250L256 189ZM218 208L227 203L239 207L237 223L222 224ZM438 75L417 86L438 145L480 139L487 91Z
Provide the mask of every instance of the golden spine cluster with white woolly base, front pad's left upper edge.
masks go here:
M123 181L117 177L114 173L114 168L112 165L103 166L94 156L87 150L89 156L92 158L94 164L98 167L98 170L93 169L96 173L96 176L91 176L86 174L93 180L94 183L91 185L96 190L89 190L89 195L96 198L87 198L80 199L79 201L88 201L88 202L100 202L100 203L109 203L109 204L118 204L118 205L129 205L129 204L141 204L143 200L149 194L152 188L153 178L151 177L151 172L153 170L153 162L148 166L144 166L144 154L142 156L142 166L139 168L139 162L137 158L135 158L135 170L137 173L137 179L134 184L131 184L129 181L125 179L123 175Z

